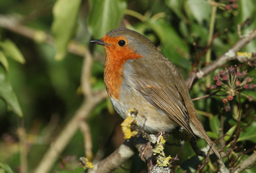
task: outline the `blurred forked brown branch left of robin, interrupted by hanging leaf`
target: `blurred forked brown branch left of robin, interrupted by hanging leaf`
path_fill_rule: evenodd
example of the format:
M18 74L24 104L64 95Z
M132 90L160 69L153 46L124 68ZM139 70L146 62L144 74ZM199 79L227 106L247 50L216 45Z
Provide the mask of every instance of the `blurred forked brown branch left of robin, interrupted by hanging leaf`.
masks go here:
M37 43L48 43L50 45L54 44L53 37L48 35L46 32L43 32L42 30L33 30L30 27L19 24L19 21L20 20L17 19L17 17L0 15L0 27L34 40ZM87 120L87 117L89 116L90 112L92 112L94 107L96 107L97 104L102 102L102 100L107 97L107 92L105 92L105 90L100 92L92 92L90 77L93 59L88 48L85 45L70 41L67 50L69 53L74 53L78 56L84 57L81 74L81 88L85 99L79 109L76 111L73 118L69 121L66 127L63 128L56 141L51 143L50 148L43 156L43 159L40 161L38 167L35 169L35 173L49 172L59 154L61 154L78 128L82 130L85 140L87 140L87 143L85 143L86 154L89 157L92 156L92 144L89 144L92 140L90 134L88 135L89 125L87 125L87 123L82 124L81 122ZM85 132L85 130L87 130L87 132Z

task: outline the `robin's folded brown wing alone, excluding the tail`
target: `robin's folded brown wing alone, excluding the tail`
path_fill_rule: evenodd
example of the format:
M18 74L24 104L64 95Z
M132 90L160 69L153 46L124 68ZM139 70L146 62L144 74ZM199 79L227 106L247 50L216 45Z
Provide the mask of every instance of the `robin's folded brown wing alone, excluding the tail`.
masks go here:
M162 61L151 61L151 69L149 62L145 63L144 60L138 60L132 65L136 89L151 105L166 112L172 120L194 135L190 128L190 115L178 89L180 82L175 81L183 80L182 76L170 61L166 58Z

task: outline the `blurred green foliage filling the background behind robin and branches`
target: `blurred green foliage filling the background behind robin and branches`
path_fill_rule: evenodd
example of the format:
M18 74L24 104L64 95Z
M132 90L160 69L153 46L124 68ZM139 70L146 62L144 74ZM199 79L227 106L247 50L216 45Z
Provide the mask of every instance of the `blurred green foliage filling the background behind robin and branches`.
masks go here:
M190 70L195 70L191 65L207 47L212 4L218 4L214 25L214 33L218 32L218 35L211 45L211 60L214 60L239 40L237 25L250 17L251 23L242 28L242 35L247 35L256 28L254 0L240 0L234 4L226 0L1 0L0 160L3 162L0 162L0 171L19 172L17 128L22 123L27 131L28 171L31 172L42 159L50 142L58 136L63 125L69 123L81 104L83 58L67 53L70 40L86 45L93 53L95 61L91 81L95 90L104 89L104 52L98 46L89 45L89 40L92 37L100 39L116 27L128 27L149 37L180 68L186 78ZM40 39L30 40L26 35L8 30L1 22L4 17L10 17L10 21L12 18L16 19L21 25L33 30L52 33L53 45L42 43ZM252 41L242 51L255 53L256 41ZM226 67L234 64L239 62L229 62ZM203 54L196 68L200 69L205 65ZM247 69L248 76L256 78L255 68L245 63L240 65L242 69ZM212 77L214 75L211 74ZM202 79L195 84L190 92L192 98L208 94L205 83L205 79ZM246 91L244 94L256 98L253 91ZM194 102L196 109L201 112L203 125L214 139L219 138L219 119L224 108L222 98L213 96ZM231 112L224 113L224 133L229 135L236 131L238 105L239 99L236 97L231 103ZM245 127L252 115L255 115L255 99L249 102L246 97L241 97L241 112L241 125ZM112 111L109 100L100 103L88 121L95 156L104 158L123 143L120 133L122 120ZM255 130L254 122L241 133L237 144L239 152L255 146ZM227 143L230 140L229 136L225 137ZM169 143L179 144L180 140L169 137ZM198 140L198 146L206 146L205 141ZM176 172L195 172L198 164L202 164L202 159L195 156L187 142L182 146L167 145L165 149L167 153L172 156L178 154L180 158L180 161L174 163L173 169ZM239 152L234 156L238 156ZM249 154L252 151L242 159L246 159ZM84 139L77 132L53 167L54 172L82 172L77 164L79 156L84 156ZM123 167L126 169L120 168L115 172L142 172L145 169L138 156L133 156ZM203 172L213 171L210 167L205 167Z

